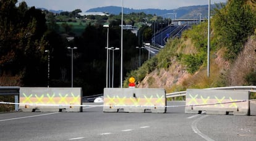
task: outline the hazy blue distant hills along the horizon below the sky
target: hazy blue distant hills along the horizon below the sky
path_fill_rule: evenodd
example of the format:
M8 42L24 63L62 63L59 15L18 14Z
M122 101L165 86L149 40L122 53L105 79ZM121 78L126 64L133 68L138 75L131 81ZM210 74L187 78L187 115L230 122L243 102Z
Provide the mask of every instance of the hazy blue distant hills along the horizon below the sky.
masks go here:
M211 8L215 8L215 4L211 5ZM89 9L86 12L105 12L108 14L119 15L121 13L121 7L106 6ZM176 13L177 18L198 18L202 14L202 18L208 15L208 5L203 6L187 6L179 7L178 9L162 10L162 9L129 9L124 7L124 14L144 12L145 14L152 14L162 16L164 18L174 18Z

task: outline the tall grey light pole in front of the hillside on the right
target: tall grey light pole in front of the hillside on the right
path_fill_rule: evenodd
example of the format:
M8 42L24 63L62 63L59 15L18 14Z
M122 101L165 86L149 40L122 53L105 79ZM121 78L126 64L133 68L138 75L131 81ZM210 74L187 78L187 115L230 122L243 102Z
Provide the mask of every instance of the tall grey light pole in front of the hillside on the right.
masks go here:
M210 77L210 24L211 24L211 14L210 8L211 7L211 0L208 3L208 43L207 43L207 76Z

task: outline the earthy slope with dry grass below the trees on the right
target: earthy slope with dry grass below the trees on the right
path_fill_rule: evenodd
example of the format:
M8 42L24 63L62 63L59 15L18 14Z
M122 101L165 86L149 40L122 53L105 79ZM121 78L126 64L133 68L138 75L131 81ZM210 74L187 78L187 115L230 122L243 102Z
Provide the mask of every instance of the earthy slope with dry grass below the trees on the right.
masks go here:
M203 31L203 29L196 30ZM202 38L207 37L203 36ZM192 39L183 35L181 39L168 41L166 47L156 55L155 60L157 61L155 63L157 64L153 66L154 69L150 71L149 65L151 63L149 61L144 63L139 70L132 72L127 78L134 76L135 79L139 80L137 81L137 87L164 87L166 92L184 91L187 88L245 85L247 73L252 69L256 70L256 54L255 51L252 51L256 50L255 45L256 39L252 36L245 46L244 53L242 52L236 63L232 65L223 58L224 47L220 49L214 49L213 47L210 55L210 77L207 77L207 64L205 62L194 74L188 73L186 66L182 65L179 55L198 54L198 49ZM243 63L245 60L246 63ZM251 65L248 66L246 64ZM244 73L239 73L241 70ZM236 76L234 76L234 71ZM143 79L140 78L140 76L143 76L142 74L145 75ZM127 81L125 84L127 84Z

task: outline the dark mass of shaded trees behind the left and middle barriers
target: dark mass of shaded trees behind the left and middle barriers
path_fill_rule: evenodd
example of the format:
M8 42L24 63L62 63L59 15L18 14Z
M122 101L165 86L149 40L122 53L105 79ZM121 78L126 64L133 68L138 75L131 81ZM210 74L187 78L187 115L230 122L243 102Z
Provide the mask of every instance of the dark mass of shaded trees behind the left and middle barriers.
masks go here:
M121 15L81 17L77 14L80 9L53 14L28 7L26 2L16 4L17 0L0 1L0 85L46 87L49 81L50 87L70 87L71 51L67 47L77 47L74 50L74 87L82 87L84 95L102 94L106 87L107 38L103 25L109 24L109 46L120 48ZM139 67L136 46L151 39L152 30L143 22L161 21L167 26L169 19L144 13L125 14L124 19L124 24L140 27L138 36L124 31L123 73L126 75ZM74 39L68 41L66 38L70 36ZM114 57L114 87L119 87L120 51L115 51ZM141 57L142 62L147 60L145 50Z

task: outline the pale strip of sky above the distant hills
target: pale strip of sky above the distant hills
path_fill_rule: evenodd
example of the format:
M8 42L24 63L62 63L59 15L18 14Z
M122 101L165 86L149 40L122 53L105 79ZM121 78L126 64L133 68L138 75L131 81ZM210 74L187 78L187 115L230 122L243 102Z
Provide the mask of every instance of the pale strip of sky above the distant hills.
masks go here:
M72 11L86 10L105 7L123 6L130 9L177 9L184 6L207 5L209 0L18 0L18 3L25 1L28 7L46 8L48 10ZM211 0L211 4L226 2L227 0Z

